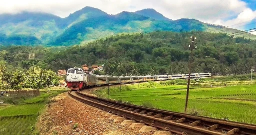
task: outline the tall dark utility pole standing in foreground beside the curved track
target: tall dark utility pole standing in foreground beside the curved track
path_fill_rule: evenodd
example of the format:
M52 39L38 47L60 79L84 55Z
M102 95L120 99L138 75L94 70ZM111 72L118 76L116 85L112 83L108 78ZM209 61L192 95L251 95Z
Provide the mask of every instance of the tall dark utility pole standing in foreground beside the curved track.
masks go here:
M187 89L186 89L186 103L185 103L185 111L186 113L186 108L187 108L187 102L188 102L188 93L189 93L189 84L190 84L190 74L191 74L191 60L193 56L193 49L196 49L196 37L191 36L191 43L188 45L189 49L191 50L190 56L189 56L189 61L188 61L188 79L187 79Z

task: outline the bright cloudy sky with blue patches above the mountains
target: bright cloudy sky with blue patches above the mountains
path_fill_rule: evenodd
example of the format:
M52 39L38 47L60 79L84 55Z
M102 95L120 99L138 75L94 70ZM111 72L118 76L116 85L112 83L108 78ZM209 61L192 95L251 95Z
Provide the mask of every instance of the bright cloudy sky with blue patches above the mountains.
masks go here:
M0 0L0 13L39 11L63 18L84 6L108 14L153 8L172 20L194 18L242 30L256 28L256 0Z

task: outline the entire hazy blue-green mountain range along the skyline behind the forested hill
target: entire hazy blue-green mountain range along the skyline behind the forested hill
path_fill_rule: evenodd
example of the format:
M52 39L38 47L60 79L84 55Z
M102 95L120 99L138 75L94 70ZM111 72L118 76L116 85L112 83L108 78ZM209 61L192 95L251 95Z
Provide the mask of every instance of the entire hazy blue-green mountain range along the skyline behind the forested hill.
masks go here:
M239 32L196 19L171 20L154 9L109 15L86 6L65 18L43 12L0 14L0 45L73 45L118 33L192 30L227 34ZM247 33L239 36L256 39L255 35Z

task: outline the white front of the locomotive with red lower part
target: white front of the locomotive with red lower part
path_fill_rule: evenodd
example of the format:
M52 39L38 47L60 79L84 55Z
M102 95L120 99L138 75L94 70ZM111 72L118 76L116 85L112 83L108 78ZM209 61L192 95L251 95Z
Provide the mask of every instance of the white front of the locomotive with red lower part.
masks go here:
M71 90L80 90L86 86L86 74L81 68L69 68L66 73L66 85Z

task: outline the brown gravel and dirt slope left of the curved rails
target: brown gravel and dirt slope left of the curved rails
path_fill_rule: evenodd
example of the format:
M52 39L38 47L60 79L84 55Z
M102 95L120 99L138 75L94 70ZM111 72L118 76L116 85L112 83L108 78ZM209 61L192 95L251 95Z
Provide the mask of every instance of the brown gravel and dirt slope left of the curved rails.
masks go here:
M114 123L94 108L66 93L52 99L38 122L40 135L152 135Z

